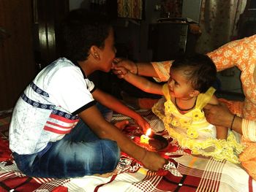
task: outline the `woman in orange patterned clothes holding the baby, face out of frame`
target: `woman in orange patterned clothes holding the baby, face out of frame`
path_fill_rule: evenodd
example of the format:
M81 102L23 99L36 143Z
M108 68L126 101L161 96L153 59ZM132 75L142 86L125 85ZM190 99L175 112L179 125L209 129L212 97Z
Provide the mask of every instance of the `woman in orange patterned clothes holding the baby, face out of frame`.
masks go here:
M246 145L240 161L245 169L256 179L256 35L229 42L217 50L207 54L217 66L217 71L237 66L241 70L241 83L245 95L244 101L226 101L222 104L205 107L207 120L216 126L230 127L243 135ZM167 81L172 61L123 65L131 72L140 75L157 77L157 80ZM122 65L122 63L120 64ZM224 104L225 103L225 104ZM249 154L249 155L247 155Z

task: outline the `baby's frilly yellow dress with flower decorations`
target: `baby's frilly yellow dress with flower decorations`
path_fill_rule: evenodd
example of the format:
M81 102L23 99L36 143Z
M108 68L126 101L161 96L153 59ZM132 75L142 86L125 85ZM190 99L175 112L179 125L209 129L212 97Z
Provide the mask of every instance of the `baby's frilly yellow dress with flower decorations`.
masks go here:
M152 111L163 121L170 137L176 139L181 147L192 150L192 154L239 163L238 155L242 152L243 145L236 141L233 131L229 131L227 140L217 139L215 126L207 122L202 110L211 100L214 92L214 88L209 88L206 93L200 93L195 108L186 114L181 114L171 101L165 84L163 85L165 98L159 99L152 107Z

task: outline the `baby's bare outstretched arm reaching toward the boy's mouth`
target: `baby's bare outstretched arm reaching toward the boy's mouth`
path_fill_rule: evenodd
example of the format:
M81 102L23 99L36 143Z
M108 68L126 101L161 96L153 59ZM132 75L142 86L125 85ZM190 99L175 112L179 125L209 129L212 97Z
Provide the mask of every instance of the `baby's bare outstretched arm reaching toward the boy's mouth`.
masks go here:
M150 80L147 80L145 77L132 74L124 67L118 67L117 71L119 78L123 78L132 85L135 85L135 87L140 88L142 91L145 91L147 93L163 95L162 85L159 85L156 82L151 82Z

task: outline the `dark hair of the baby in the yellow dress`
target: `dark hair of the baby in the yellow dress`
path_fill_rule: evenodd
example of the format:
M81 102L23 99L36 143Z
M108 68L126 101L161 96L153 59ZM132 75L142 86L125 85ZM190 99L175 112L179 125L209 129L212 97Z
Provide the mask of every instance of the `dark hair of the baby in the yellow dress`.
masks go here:
M177 58L171 69L184 71L192 87L200 93L205 93L217 80L217 69L214 62L207 55L195 53Z

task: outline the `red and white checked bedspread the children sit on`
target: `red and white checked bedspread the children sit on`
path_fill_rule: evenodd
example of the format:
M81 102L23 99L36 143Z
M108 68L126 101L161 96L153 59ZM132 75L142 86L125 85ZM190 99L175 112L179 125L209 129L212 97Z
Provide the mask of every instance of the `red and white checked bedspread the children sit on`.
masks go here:
M151 111L139 112L151 127L157 127L159 121ZM121 153L118 174L110 177L85 176L62 180L27 177L18 170L8 148L10 114L0 114L0 191L256 191L256 181L239 164L191 155L189 150L182 150L174 142L159 152L169 160L165 169L159 172L150 172L140 162ZM129 120L117 114L113 117L113 121L124 119ZM135 124L129 121L127 130L135 130Z

